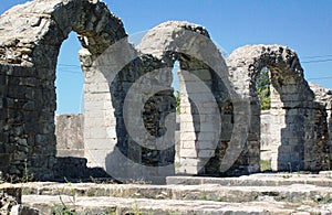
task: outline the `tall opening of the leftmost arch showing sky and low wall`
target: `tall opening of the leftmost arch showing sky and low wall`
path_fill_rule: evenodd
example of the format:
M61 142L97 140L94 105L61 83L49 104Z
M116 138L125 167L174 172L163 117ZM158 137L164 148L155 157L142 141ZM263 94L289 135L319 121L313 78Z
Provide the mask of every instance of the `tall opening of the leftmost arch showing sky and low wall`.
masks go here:
M77 54L82 46L76 37L76 33L70 33L69 39L62 43L58 56L55 72L58 163L60 158L84 158L84 78Z

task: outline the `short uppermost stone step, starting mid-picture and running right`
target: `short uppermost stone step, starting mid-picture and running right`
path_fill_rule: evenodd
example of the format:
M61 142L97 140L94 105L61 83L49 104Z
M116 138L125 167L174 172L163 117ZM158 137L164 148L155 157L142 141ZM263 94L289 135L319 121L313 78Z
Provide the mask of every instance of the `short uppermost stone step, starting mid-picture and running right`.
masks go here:
M332 186L332 173L325 171L321 174L276 173L251 174L239 178L205 178L205 176L168 176L167 184L220 184L227 186L280 186L291 184L312 184L317 186Z

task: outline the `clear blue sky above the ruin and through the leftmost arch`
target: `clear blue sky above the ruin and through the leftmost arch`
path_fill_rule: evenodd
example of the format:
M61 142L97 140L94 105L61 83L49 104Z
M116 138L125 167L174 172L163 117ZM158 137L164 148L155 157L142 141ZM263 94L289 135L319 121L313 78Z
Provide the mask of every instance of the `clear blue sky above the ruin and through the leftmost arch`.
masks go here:
M24 0L1 0L0 13ZM331 0L104 0L128 34L168 20L207 28L228 54L246 44L282 44L297 51L305 78L332 89ZM83 78L74 34L59 56L58 114L81 109Z

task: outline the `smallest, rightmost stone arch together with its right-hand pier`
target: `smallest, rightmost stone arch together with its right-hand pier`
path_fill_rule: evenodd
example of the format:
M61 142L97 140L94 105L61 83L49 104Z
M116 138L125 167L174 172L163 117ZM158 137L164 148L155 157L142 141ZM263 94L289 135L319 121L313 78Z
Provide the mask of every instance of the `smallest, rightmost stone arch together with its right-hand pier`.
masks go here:
M256 111L256 76L264 66L270 69L272 170L326 169L324 108L314 101L297 53L281 45L243 46L227 63L237 90L249 95Z

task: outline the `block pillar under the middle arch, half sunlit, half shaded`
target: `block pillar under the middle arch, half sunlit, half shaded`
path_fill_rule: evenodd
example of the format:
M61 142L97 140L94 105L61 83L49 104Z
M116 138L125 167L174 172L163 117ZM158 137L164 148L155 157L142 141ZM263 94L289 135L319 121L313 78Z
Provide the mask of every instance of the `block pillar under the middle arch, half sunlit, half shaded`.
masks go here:
M211 73L201 63L180 60L180 165L177 173L201 174L215 157L220 136L220 108ZM219 120L218 120L219 119Z

